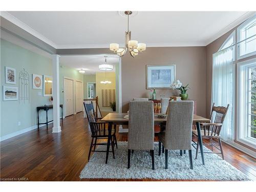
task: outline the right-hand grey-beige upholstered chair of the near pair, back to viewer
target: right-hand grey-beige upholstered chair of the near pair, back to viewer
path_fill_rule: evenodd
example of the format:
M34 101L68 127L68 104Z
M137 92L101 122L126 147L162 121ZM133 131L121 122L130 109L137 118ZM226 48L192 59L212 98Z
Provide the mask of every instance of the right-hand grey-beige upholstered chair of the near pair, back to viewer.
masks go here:
M168 150L188 150L190 169L193 169L191 131L194 101L169 101L165 132L159 134L159 156L161 143L165 148L165 168L168 168Z

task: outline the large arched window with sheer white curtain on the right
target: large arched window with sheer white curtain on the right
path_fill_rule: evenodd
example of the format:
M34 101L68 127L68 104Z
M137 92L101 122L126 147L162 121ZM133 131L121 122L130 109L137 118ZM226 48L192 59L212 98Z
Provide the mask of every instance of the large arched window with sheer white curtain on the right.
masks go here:
M227 142L238 140L255 148L256 15L241 24L213 55L211 99L221 106L230 104L221 138ZM235 121L237 131L234 131Z

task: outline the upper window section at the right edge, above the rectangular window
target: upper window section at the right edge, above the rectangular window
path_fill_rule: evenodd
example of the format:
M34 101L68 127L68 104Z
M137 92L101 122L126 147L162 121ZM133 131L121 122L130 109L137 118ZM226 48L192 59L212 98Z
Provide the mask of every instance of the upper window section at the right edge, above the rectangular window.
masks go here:
M241 41L241 42L240 42ZM256 15L238 27L238 58L244 58L256 52Z

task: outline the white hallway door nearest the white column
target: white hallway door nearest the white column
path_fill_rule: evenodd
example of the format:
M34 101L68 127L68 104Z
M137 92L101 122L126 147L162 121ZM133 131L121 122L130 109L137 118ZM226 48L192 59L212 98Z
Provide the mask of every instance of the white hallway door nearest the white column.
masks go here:
M74 114L73 80L64 79L65 117Z

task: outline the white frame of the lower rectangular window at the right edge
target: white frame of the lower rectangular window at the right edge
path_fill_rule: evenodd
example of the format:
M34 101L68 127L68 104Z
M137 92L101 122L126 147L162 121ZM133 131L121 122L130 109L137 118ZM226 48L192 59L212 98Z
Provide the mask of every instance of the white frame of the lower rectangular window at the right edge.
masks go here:
M237 63L237 141L250 147L256 147L256 139L248 137L248 70L256 65L256 58ZM246 77L247 76L247 77ZM246 83L246 86L245 86ZM242 101L242 102L241 102ZM245 108L245 109L244 109ZM244 109L242 111L242 109ZM246 125L246 126L245 126Z

